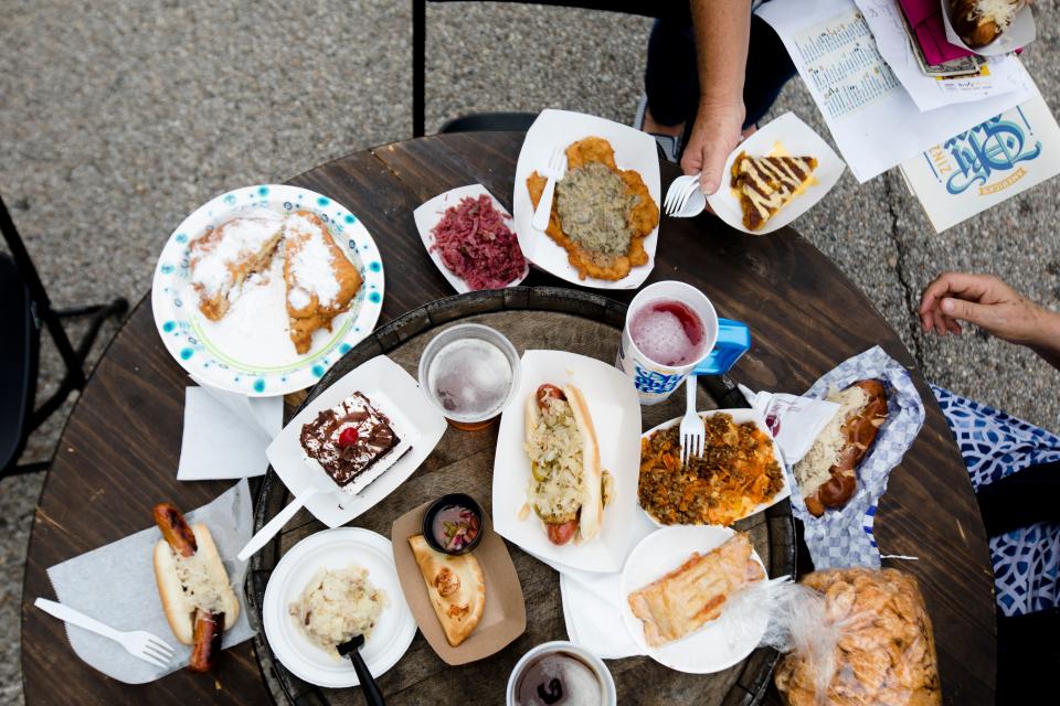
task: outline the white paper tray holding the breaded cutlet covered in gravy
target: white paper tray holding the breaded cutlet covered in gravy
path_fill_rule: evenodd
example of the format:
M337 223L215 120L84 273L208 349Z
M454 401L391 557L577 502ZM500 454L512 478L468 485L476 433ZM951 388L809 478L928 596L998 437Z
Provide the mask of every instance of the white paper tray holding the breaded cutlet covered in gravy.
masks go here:
M629 274L616 281L606 279L580 279L577 270L568 259L566 250L555 240L538 231L533 221L533 202L527 190L527 178L534 171L541 171L552 156L553 148L566 149L571 142L586 137L602 137L615 149L615 163L618 169L635 169L648 188L648 193L660 205L661 188L659 181L659 157L655 138L647 132L635 130L604 118L569 110L542 110L533 121L522 141L519 162L516 164L515 194L512 212L516 216L516 233L519 245L527 259L547 272L560 279L595 289L636 289L651 274L655 267L655 249L659 242L659 227L656 226L644 239L644 249L648 253L646 265L634 267Z

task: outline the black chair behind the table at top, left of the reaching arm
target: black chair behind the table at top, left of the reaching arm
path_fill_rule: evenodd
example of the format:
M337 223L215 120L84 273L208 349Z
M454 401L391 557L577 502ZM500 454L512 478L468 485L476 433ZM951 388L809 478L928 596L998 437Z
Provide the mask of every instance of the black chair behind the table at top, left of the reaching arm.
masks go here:
M426 47L426 18L427 2L446 2L449 0L413 0L412 2L412 136L424 135L424 75ZM664 14L680 11L677 6L687 6L678 0L656 0L649 2L632 2L629 0L614 0L612 2L550 2L549 0L527 2L526 0L494 0L496 2L519 2L521 4L547 4L566 8L584 8L589 10L606 10L625 14L640 14L644 17L662 17ZM685 10L687 12L687 10ZM523 131L530 128L536 113L475 113L460 116L447 121L439 132L473 132L511 130Z

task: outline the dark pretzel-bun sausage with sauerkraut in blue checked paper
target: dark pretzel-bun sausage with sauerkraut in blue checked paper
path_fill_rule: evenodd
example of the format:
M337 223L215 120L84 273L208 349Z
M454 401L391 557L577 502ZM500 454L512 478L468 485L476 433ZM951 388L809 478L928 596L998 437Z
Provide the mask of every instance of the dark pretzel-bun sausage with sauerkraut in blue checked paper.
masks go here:
M795 480L815 517L846 505L857 489L857 468L887 420L887 393L877 379L860 381L828 395L840 405L814 446L795 464Z

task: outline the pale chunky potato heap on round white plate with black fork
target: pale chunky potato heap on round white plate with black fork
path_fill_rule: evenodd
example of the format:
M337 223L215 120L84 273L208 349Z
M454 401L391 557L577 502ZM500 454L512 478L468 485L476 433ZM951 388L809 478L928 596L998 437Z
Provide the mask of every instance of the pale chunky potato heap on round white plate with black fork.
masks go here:
M318 570L288 612L310 640L337 656L337 645L371 635L385 607L386 593L368 580L368 569L350 564Z

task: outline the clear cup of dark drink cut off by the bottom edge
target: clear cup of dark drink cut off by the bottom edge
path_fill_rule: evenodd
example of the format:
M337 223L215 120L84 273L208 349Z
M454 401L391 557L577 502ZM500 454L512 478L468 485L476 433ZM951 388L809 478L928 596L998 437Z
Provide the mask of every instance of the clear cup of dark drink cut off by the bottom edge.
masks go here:
M508 677L508 706L616 706L604 661L573 642L545 642L522 655Z

